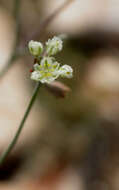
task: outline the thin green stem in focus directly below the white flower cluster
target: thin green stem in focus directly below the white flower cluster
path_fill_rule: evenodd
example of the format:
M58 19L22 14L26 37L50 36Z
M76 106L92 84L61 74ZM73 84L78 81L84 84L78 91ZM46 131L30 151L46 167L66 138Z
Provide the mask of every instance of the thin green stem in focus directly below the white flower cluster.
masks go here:
M15 134L12 142L9 144L7 150L5 152L3 152L3 154L0 157L0 165L4 162L4 160L7 158L7 156L9 155L9 153L12 151L12 149L15 146L15 144L17 143L19 135L21 134L21 131L22 131L23 127L24 127L24 123L25 123L25 121L26 121L26 119L27 119L27 117L28 117L28 115L30 113L30 110L32 108L32 105L33 105L33 103L34 103L34 101L36 99L36 96L38 94L40 86L41 86L41 83L38 82L37 85L36 85L36 87L35 87L35 89L34 89L34 92L33 92L33 95L31 97L31 100L29 102L29 105L28 105L28 107L26 109L26 112L25 112L25 114L24 114L24 116L23 116L23 118L21 120L19 128L18 128L18 130L17 130L17 132L16 132L16 134Z

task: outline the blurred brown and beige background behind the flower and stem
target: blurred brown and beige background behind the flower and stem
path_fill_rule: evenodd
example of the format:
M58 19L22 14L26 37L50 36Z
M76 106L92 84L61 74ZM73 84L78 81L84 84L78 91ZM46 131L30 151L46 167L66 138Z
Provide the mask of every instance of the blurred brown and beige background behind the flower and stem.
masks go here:
M0 153L35 86L33 57L24 54L28 41L66 34L57 60L71 65L74 77L59 79L71 89L62 92L64 98L40 89L14 151L0 167L0 190L119 190L119 1L19 0L15 17L17 1L0 0L0 72L16 37L20 51L0 74Z

